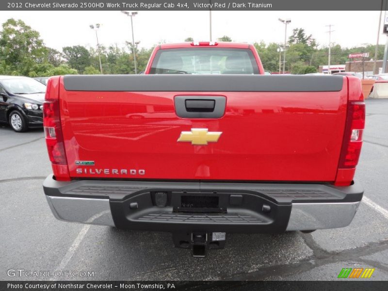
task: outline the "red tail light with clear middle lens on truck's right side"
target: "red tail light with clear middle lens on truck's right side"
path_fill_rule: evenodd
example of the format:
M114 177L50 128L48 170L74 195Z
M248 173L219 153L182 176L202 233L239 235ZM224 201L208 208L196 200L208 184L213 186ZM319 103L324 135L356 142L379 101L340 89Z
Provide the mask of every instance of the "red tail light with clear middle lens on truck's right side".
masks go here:
M349 101L339 169L355 168L360 157L365 127L365 103Z

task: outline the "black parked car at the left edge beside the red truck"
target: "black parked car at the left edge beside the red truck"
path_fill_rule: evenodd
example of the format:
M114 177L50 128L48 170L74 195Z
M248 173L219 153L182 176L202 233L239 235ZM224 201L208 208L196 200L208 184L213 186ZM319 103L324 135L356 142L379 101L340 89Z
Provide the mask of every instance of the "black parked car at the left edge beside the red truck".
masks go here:
M43 127L46 86L27 77L0 76L0 122L17 132Z

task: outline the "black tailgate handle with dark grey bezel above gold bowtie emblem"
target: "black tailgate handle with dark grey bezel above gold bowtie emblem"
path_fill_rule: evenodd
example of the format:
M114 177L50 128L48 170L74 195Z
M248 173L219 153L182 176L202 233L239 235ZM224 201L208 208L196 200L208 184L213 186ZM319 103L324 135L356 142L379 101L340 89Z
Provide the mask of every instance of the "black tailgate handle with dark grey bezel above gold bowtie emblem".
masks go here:
M182 118L220 118L225 113L225 96L176 96L175 112Z

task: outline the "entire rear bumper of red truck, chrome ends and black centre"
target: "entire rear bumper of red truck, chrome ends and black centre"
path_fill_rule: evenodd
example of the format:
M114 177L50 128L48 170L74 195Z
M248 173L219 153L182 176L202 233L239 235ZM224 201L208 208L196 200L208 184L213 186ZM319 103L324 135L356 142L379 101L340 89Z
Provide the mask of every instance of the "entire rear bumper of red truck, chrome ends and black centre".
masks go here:
M202 195L206 195L205 185L185 182L59 182L49 176L44 183L50 209L59 220L171 232L203 229L278 233L344 227L352 222L363 194L358 184L334 187L321 184L208 183L206 189L210 195L218 193L220 201L226 197L223 200L227 205L226 213L180 213L172 204L161 208L152 202L155 191L179 195L182 189L189 191L189 194L183 191L184 195L190 195L190 192L204 192ZM218 190L213 192L214 189ZM242 196L242 203L238 206L228 200L235 194ZM136 208L131 208L133 202ZM270 212L264 211L263 203L270 205Z

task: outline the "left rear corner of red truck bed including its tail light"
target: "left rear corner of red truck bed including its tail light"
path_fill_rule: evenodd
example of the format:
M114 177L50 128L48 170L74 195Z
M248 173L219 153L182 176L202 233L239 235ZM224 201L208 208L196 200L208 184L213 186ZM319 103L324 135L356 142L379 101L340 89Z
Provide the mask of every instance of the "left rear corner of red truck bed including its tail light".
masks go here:
M43 103L43 126L52 171L57 180L70 180L62 134L59 108L59 78L52 77L47 84Z

